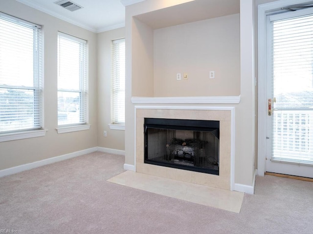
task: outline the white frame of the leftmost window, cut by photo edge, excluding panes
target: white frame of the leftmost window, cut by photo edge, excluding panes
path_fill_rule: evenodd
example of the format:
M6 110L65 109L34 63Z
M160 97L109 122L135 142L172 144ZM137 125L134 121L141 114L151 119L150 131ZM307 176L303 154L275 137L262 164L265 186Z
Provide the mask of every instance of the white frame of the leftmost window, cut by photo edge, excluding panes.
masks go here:
M9 21L16 25L20 25L23 27L28 27L33 29L33 79L34 84L31 87L23 87L22 85L0 85L3 89L11 89L11 88L18 88L23 90L33 90L34 91L34 100L35 104L33 107L34 113L34 126L31 128L21 128L21 129L14 129L8 131L1 131L0 132L0 142L3 141L10 141L10 140L18 140L18 139L25 139L25 138L32 138L32 137L43 137L47 130L44 129L44 108L43 108L43 37L42 37L42 26L22 20L7 14L0 12L0 18L2 20ZM36 117L37 120L36 120Z

